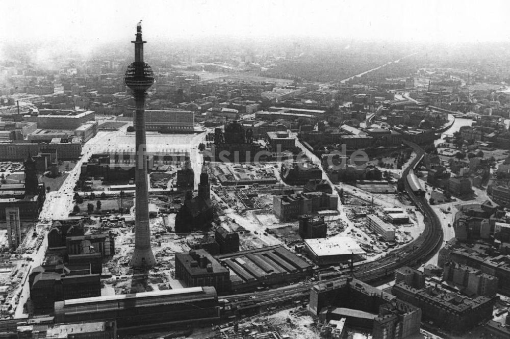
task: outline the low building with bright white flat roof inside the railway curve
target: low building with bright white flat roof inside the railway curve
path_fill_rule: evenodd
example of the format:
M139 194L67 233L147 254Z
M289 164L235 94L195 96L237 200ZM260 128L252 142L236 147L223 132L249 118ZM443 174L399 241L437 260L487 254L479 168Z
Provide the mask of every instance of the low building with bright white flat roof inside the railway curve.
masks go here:
M359 261L366 254L351 237L305 239L304 249L319 266Z

